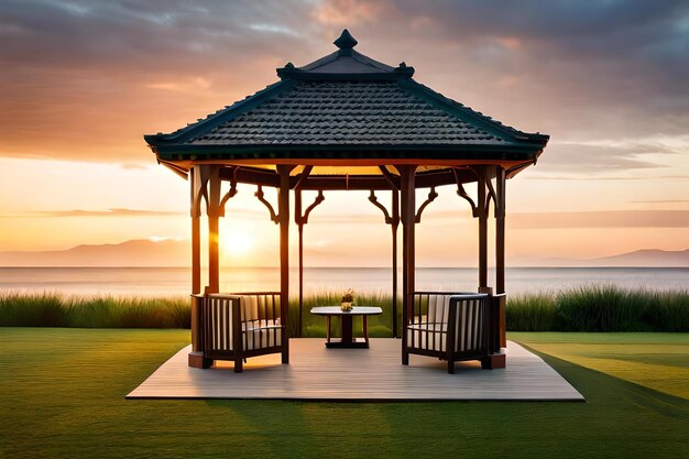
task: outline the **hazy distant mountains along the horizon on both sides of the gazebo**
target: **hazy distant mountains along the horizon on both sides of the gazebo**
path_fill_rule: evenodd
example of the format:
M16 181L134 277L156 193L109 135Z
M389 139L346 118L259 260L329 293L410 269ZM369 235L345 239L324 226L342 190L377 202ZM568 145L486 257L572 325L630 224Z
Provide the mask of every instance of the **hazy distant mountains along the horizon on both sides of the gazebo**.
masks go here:
M326 254L324 254L326 256ZM337 256L333 256L337 259ZM118 244L77 245L67 250L0 252L0 266L188 266L189 241L147 239ZM532 266L689 266L689 249L637 250L599 259L512 260L511 265Z

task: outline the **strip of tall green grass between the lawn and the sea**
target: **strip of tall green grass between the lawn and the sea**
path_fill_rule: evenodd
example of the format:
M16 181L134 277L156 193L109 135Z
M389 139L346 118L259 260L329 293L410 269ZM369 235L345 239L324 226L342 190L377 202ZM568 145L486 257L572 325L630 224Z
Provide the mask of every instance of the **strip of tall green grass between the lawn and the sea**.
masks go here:
M380 306L369 318L372 337L391 337L392 295L359 295L357 304ZM303 337L326 335L326 320L309 312L337 305L340 293L320 292L304 298ZM624 289L586 285L562 292L507 295L510 331L689 331L689 291ZM289 300L289 334L298 334L298 302ZM402 305L397 308L402 323ZM56 293L0 293L0 327L189 328L186 297L74 297ZM332 332L337 332L336 321ZM354 320L360 332L361 321Z

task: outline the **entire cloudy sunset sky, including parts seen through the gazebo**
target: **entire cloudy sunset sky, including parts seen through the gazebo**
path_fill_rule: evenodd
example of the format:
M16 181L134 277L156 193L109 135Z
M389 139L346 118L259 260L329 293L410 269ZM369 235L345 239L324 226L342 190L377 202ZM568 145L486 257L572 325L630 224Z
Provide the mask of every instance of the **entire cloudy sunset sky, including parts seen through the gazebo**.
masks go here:
M359 52L550 134L507 184L508 264L689 248L687 1L4 0L0 251L188 240L188 184L142 135L331 53L343 28ZM254 189L239 190L223 263L275 264L277 229ZM471 265L475 220L451 187L438 192L417 262ZM306 240L307 264L389 264L390 228L367 194L326 194Z

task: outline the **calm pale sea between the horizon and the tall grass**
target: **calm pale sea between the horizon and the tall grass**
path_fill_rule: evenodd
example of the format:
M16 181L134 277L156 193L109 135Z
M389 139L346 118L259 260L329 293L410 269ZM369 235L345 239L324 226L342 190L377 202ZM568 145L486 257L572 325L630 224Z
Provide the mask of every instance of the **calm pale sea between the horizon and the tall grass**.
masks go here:
M475 269L417 269L416 289L475 291ZM492 274L492 273L491 273ZM492 275L491 275L492 278ZM297 293L292 272L292 294ZM689 288L689 267L513 267L507 270L507 293L557 292L588 284L623 288ZM222 292L275 291L277 267L221 270ZM305 293L389 293L392 270L385 267L310 267L304 272ZM400 280L400 288L402 282ZM0 292L56 292L66 295L144 296L187 295L190 271L184 267L0 267Z

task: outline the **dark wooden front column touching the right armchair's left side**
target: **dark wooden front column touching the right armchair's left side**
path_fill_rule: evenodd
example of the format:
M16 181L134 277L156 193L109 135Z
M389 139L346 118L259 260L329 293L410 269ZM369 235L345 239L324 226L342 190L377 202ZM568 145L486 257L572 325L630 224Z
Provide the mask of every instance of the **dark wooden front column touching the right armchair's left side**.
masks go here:
M416 260L415 234L416 219L416 166L396 166L401 175L402 192L402 364L409 364L407 334L405 327L409 317L412 294L415 288Z

